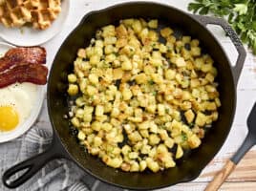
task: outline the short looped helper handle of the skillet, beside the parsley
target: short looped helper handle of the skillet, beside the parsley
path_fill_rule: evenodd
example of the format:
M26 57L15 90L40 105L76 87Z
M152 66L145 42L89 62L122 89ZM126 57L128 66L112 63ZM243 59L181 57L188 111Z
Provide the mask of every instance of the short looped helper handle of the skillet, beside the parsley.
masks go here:
M220 25L224 29L224 32L226 32L226 34L231 38L231 41L233 42L238 52L236 65L232 67L232 74L234 77L235 85L237 85L246 57L245 48L238 34L231 28L231 26L224 19L210 16L202 16L197 14L191 14L191 16L198 20L200 23L202 23L204 26L208 24Z

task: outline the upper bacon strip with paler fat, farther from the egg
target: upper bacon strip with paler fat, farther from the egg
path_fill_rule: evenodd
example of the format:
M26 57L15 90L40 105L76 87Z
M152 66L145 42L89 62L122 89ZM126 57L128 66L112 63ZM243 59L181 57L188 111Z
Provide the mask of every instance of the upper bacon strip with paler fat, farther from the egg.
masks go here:
M46 50L42 47L13 48L0 58L0 72L22 63L45 64Z

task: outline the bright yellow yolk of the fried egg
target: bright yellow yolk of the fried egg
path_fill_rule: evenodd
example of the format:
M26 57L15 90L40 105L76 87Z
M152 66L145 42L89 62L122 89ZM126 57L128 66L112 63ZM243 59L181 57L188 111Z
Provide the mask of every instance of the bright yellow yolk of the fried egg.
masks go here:
M0 106L0 131L11 131L18 123L18 113L13 107Z

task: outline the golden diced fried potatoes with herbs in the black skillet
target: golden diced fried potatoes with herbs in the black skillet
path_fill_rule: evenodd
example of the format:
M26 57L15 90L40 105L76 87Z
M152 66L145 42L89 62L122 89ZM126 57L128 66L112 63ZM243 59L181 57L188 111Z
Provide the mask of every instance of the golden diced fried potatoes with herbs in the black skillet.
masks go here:
M123 171L176 166L201 145L221 106L217 69L200 41L158 22L125 19L101 28L68 75L80 144Z

